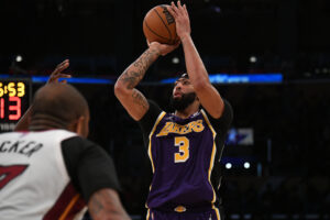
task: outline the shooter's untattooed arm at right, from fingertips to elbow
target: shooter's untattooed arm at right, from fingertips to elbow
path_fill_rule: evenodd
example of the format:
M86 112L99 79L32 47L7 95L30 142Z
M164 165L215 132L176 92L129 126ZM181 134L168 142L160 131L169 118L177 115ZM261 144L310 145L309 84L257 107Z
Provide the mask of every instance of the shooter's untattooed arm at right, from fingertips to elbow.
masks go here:
M190 36L190 21L186 6L182 6L180 1L177 2L177 6L172 2L168 11L173 14L176 22L176 32L184 47L186 68L190 82L196 90L201 106L212 118L218 119L223 112L223 100L211 85L205 65Z

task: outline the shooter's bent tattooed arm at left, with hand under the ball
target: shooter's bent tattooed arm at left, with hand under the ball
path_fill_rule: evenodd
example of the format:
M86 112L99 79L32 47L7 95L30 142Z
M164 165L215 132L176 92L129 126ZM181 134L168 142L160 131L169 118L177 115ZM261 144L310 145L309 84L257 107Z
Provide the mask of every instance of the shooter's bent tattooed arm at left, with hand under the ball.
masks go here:
M114 95L134 120L139 121L148 110L145 97L135 89L136 85L160 55L165 56L178 45L179 43L176 45L151 43L148 48L118 78L114 85Z

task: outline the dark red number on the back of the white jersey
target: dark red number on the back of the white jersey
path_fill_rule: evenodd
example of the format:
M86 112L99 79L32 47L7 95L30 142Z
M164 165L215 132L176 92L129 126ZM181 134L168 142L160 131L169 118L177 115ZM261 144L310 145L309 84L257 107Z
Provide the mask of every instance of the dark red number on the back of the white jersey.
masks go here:
M28 165L13 165L13 166L1 166L0 165L0 190L12 179L20 176Z

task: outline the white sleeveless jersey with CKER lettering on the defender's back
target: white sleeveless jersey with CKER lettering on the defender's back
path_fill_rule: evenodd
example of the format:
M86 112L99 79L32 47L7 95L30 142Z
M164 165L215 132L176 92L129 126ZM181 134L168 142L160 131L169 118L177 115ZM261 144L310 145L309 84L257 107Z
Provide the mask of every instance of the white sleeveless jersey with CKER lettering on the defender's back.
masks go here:
M65 130L0 134L0 219L81 219L86 206L70 184L61 142Z

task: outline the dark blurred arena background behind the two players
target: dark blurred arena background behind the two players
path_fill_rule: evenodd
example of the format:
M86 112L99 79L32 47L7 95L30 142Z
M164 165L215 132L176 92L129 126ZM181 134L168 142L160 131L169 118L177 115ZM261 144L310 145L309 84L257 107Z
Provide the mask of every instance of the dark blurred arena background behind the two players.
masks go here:
M65 58L89 101L90 139L116 161L121 198L144 219L150 164L113 81L145 48L144 14L169 1L2 0L0 78L41 77ZM220 82L234 120L222 157L226 219L330 219L330 1L186 0L209 74L280 74L280 82ZM168 109L182 48L139 87ZM44 82L34 80L35 91ZM86 219L89 216L86 215Z

